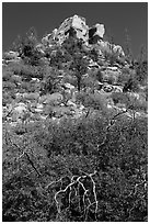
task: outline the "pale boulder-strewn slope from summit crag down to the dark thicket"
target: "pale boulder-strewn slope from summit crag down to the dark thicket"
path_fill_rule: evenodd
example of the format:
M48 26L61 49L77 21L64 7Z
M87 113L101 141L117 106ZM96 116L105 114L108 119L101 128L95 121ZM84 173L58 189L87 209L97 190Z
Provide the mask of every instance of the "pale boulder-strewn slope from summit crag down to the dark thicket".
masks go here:
M122 46L104 41L104 34L105 27L103 24L97 23L89 27L84 18L73 15L66 19L50 34L44 36L42 42L34 46L34 49L41 54L41 59L45 63L44 66L56 68L58 63L62 67L57 69L57 72L60 74L55 77L55 80L58 81L56 90L45 93L42 91L44 78L41 79L35 75L30 77L25 71L18 71L16 67L24 64L24 53L13 51L5 53L3 57L3 85L7 83L5 79L10 78L5 78L8 70L11 70L14 65L11 80L15 82L15 91L11 102L3 103L3 120L14 126L24 121L34 122L50 119L59 122L62 117L74 119L86 114L89 108L78 101L79 91L77 85L74 85L77 76L72 71L71 75L68 75L70 72L69 65L73 60L73 54L69 51L73 45L80 45L80 48L76 46L74 55L80 54L81 58L86 60L85 72L82 74L84 85L82 85L80 93L84 92L85 96L90 93L93 94L93 98L99 96L97 98L105 101L109 111L125 110L126 103L119 101L115 103L112 96L124 92L124 77L125 79L127 79L127 75L128 77L135 77L136 70L126 60ZM71 45L67 45L68 40L71 40ZM26 80L26 76L28 80ZM74 81L69 82L69 78ZM30 89L21 92L21 87L26 81L39 88L35 88L33 92ZM47 85L48 80L45 80L45 82ZM140 103L142 101L147 104L146 94L141 90L146 86L141 87L139 85L139 87L138 92L135 93L127 89L126 94L131 100L138 100ZM3 88L3 98L5 98L8 89L8 87ZM127 114L130 115L131 113L128 112ZM140 113L138 111L137 114L143 115L141 111Z

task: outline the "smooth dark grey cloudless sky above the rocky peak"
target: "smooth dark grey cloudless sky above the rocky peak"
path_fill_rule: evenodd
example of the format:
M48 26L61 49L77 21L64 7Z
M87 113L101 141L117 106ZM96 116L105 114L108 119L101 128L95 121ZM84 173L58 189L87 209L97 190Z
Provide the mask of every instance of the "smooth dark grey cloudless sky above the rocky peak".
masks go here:
M125 48L126 30L134 57L148 48L147 2L3 2L2 49L8 51L18 35L34 26L41 40L58 29L65 19L78 14L92 26L102 23L114 43Z

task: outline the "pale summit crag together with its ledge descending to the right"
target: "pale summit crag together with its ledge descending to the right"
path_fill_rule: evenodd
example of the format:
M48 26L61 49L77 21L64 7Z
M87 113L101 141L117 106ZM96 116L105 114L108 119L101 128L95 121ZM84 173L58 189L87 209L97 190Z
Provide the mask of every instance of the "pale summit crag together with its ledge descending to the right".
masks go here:
M53 33L44 36L42 43L44 46L53 46L54 42L57 42L61 45L69 36L76 36L77 38L82 40L85 46L99 44L100 54L103 54L104 52L113 52L118 57L124 57L125 54L122 46L104 42L104 24L96 23L92 27L89 27L85 24L84 18L73 15L66 19L58 29L53 31Z

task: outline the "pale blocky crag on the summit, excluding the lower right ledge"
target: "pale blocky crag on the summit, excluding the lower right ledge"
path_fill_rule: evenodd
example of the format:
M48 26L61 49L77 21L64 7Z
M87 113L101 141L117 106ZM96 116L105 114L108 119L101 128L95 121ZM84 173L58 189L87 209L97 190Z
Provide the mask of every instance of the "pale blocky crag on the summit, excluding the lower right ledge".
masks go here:
M82 40L84 43L95 44L99 40L103 40L105 29L103 24L95 24L89 27L85 24L85 19L79 15L66 19L61 25L53 31L53 33L43 37L42 43L44 45L51 45L54 41L64 43L69 36L76 36Z

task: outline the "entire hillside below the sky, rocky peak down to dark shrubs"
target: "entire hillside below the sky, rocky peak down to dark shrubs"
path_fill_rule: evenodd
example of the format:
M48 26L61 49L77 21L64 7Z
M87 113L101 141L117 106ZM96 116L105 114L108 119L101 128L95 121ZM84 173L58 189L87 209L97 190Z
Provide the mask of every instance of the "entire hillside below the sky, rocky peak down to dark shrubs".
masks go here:
M148 63L104 34L73 15L3 53L3 221L147 221Z

